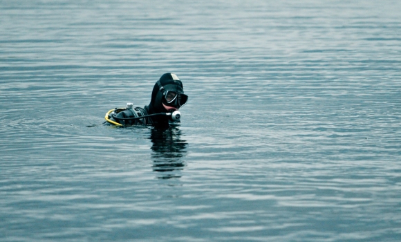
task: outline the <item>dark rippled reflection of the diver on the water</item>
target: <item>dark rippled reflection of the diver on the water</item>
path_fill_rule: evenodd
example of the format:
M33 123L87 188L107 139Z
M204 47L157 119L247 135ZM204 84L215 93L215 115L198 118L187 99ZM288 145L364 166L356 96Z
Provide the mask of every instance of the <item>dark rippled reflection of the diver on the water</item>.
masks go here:
M162 172L158 178L180 178L183 169L187 143L180 139L181 131L177 127L169 129L151 129L150 140L153 142L153 171Z

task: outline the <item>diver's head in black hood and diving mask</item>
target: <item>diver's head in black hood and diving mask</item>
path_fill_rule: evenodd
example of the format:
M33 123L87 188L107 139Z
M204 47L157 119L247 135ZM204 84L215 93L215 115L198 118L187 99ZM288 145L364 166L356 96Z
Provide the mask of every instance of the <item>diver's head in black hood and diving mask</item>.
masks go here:
M163 74L153 86L149 113L176 111L187 103L183 82L173 73Z

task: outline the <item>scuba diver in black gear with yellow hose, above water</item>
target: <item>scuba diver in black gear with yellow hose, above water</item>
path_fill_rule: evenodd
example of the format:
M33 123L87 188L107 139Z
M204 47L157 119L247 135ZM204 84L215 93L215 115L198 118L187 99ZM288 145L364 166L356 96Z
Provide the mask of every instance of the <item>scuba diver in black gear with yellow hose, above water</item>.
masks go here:
M165 73L153 86L151 102L144 108L133 108L128 103L125 109L112 109L106 116L106 122L117 126L153 125L168 127L180 122L181 106L187 104L188 96L184 94L183 82L173 73ZM143 118L140 118L143 117Z

